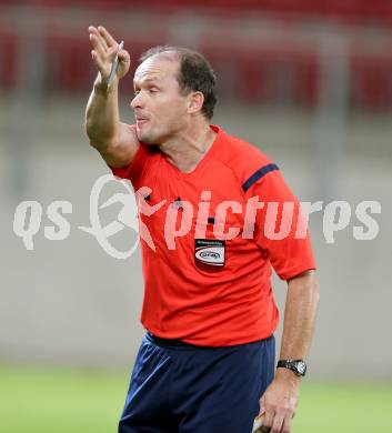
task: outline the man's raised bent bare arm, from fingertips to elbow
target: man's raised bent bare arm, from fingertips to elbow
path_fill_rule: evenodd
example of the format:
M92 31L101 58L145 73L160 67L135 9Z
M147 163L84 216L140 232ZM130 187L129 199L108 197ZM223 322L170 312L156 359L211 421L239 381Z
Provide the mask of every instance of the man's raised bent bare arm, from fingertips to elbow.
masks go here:
M125 167L132 161L140 145L134 131L120 121L119 114L119 80L129 70L130 56L125 50L119 52L118 72L108 89L118 43L102 27L90 27L89 32L93 48L91 56L98 69L98 77L87 104L86 132L91 145L101 153L109 165Z

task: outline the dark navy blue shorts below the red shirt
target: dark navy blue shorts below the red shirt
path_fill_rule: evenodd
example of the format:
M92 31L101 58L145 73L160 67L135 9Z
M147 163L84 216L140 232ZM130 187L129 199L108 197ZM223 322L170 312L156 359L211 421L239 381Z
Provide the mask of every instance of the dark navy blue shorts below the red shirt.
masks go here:
M275 341L200 348L147 333L119 433L251 433Z

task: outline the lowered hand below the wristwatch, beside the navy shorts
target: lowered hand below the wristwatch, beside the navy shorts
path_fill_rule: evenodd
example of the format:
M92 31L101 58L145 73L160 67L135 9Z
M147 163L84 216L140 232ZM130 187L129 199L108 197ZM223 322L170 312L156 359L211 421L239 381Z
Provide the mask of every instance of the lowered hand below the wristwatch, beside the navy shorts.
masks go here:
M298 405L299 383L300 379L290 370L277 373L260 399L260 413L265 412L263 425L270 427L271 433L290 433Z

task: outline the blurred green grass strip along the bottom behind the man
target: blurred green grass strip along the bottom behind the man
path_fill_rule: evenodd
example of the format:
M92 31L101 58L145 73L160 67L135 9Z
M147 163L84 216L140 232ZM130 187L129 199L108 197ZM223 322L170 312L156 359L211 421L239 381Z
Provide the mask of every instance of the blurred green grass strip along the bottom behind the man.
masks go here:
M127 372L2 365L0 432L115 433L128 381ZM392 432L392 383L304 381L292 431Z

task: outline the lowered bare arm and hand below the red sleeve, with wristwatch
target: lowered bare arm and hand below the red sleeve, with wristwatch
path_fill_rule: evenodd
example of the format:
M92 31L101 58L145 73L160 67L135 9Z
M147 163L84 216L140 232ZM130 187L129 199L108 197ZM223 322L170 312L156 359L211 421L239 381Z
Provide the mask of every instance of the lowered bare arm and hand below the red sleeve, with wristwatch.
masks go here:
M304 360L312 340L320 290L314 271L306 271L288 282L280 360ZM289 433L294 416L301 379L291 370L277 374L260 399L265 411L264 425L271 433Z

